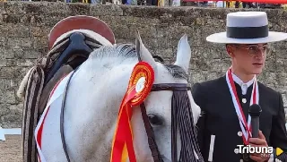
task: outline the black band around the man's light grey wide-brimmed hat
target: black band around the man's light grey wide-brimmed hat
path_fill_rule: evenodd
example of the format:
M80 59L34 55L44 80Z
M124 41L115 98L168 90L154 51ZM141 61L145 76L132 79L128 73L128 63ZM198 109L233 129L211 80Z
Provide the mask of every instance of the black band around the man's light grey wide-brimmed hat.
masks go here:
M268 37L268 25L262 27L227 27L228 38L265 38Z

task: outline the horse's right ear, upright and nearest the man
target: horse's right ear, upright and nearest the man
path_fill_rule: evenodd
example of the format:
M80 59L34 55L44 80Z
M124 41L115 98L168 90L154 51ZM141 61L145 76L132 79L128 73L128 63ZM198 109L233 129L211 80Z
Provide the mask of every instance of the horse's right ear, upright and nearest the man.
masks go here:
M177 61L174 64L182 67L186 72L188 72L190 58L191 49L188 44L187 34L185 34L178 41Z

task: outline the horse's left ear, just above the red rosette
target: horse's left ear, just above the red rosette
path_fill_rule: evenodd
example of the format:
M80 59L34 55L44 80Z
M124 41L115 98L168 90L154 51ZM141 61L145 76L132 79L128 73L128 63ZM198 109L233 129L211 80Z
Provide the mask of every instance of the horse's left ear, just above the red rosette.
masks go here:
M138 61L144 61L148 64L151 64L153 69L156 67L156 62L152 57L150 51L144 47L142 38L138 30L136 30L135 34L135 49L138 57Z

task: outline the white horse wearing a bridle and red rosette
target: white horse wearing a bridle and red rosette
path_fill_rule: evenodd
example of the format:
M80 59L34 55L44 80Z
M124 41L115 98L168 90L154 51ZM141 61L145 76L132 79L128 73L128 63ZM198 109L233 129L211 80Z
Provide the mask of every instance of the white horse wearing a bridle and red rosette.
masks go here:
M152 65L155 72L153 83L187 83L191 59L187 35L180 38L176 62L170 65L155 62L139 35L135 45L95 49L74 73L66 95L64 118L65 143L71 162L109 162L118 110L131 72L138 63L137 49L142 60ZM172 91L151 91L144 101L164 162L171 162L171 97ZM200 107L190 91L188 97L196 124ZM57 99L50 105L43 125L41 149L47 162L67 161L60 135L59 102L61 100ZM134 107L131 123L136 160L152 162L140 107Z

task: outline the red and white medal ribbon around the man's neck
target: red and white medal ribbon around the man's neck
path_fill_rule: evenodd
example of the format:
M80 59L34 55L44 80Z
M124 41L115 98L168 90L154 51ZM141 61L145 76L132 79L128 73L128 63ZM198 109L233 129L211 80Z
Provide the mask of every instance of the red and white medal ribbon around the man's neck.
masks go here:
M233 81L233 77L231 74L231 68L229 71L226 72L226 81L228 84L228 87L230 89L230 94L232 97L232 102L236 111L236 114L239 117L239 124L240 128L242 130L242 139L244 144L248 145L248 139L252 137L251 134L251 116L248 115L248 122L246 120L246 117L243 113L242 107L239 102L239 97L237 95L237 90L235 88L235 83ZM250 106L253 104L258 104L259 101L259 95L258 95L258 85L257 85L257 78L256 76L254 77L254 82L253 82L253 89L251 93L251 98L250 98Z

